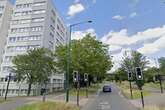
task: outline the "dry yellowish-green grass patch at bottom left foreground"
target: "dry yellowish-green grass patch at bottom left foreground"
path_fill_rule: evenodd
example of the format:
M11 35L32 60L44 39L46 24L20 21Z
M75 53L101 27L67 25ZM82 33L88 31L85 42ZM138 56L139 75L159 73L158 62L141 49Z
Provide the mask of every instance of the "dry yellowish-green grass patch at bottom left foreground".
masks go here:
M57 102L38 102L31 105L25 105L16 110L80 110L79 107L72 104L57 103Z

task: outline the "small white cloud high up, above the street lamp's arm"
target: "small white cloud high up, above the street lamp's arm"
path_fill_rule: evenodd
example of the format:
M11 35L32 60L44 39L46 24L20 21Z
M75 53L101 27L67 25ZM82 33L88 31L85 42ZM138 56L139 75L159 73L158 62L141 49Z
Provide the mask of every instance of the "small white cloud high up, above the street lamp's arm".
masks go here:
M78 2L78 0L76 0L75 2ZM69 7L68 15L75 16L76 14L84 10L85 10L85 7L81 3L75 3Z

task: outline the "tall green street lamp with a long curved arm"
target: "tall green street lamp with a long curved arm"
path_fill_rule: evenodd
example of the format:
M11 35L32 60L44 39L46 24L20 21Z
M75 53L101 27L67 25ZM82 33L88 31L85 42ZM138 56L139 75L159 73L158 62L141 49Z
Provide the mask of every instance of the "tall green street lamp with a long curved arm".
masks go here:
M92 23L92 21L83 21L83 22L71 24L69 26L70 32L69 32L69 39L68 39L68 45L67 45L67 70L66 70L66 75L65 75L65 78L66 78L66 102L69 101L69 73L70 73L70 59L71 59L70 47L71 47L72 28L74 26L86 24L86 23Z

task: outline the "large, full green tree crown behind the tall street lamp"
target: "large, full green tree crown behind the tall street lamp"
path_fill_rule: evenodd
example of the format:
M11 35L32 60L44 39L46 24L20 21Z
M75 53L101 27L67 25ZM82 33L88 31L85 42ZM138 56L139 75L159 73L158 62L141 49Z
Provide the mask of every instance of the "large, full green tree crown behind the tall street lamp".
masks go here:
M65 72L67 47L60 46L55 53L58 59L59 69ZM70 60L70 73L77 70L82 74L88 73L91 77L97 76L103 78L105 73L112 67L108 46L96 40L90 34L81 40L72 40Z

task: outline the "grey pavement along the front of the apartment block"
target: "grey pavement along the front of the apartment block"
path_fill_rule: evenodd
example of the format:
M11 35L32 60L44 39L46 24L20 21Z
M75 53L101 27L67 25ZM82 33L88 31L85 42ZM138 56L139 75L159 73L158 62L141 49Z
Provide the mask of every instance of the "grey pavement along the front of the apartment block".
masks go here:
M24 106L26 104L32 104L38 101L42 101L42 96L9 98L9 100L11 101L7 101L0 104L0 110L16 110L16 108ZM65 102L65 94L62 93L56 95L46 95L46 101ZM80 107L84 106L87 101L87 98L81 97L79 102ZM76 97L70 96L69 103L77 104Z

